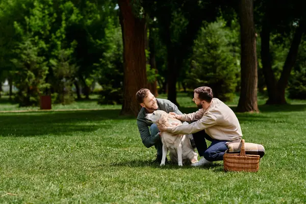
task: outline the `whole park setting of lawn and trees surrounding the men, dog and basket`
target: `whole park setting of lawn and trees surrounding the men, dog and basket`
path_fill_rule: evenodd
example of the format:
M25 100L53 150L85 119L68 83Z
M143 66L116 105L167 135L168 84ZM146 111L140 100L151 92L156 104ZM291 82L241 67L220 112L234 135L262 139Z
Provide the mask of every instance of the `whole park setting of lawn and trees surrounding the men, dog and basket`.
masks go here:
M0 2L1 203L305 203L299 1ZM152 164L135 93L183 113L213 88L260 170ZM42 109L44 96L52 108Z

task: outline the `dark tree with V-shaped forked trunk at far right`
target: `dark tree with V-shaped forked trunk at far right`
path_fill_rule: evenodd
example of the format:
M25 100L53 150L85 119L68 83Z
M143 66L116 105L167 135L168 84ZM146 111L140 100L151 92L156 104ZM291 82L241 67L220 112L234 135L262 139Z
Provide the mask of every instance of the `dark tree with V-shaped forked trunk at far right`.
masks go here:
M304 8L302 4L298 1L286 2L286 4L276 4L275 1L272 1L264 2L262 6L264 17L261 21L261 58L269 96L267 104L287 103L285 91L288 85L290 72L297 59L299 44L306 30L305 16L303 16L304 12L301 9ZM275 13L274 11L277 12ZM294 33L281 77L278 81L272 69L272 52L270 50L270 36L273 33L285 33L285 35L282 36L286 37L288 37L290 33Z

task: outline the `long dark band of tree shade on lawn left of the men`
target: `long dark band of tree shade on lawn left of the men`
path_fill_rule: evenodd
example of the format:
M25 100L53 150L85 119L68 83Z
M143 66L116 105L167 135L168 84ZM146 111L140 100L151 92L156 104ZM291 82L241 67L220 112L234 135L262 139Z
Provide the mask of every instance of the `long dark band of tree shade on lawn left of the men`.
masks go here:
M135 119L119 116L119 113L120 110L3 113L0 114L0 135L25 137L86 133L114 128L119 120ZM103 122L105 120L114 121Z

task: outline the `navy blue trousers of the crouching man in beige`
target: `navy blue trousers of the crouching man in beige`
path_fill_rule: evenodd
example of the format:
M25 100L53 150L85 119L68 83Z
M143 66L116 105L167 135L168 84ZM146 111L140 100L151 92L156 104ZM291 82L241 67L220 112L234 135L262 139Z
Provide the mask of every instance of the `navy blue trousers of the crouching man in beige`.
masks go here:
M205 130L193 133L193 140L198 150L198 154L210 162L223 160L224 152L226 151L225 140L215 140L206 134ZM211 145L207 147L206 140L211 141Z

